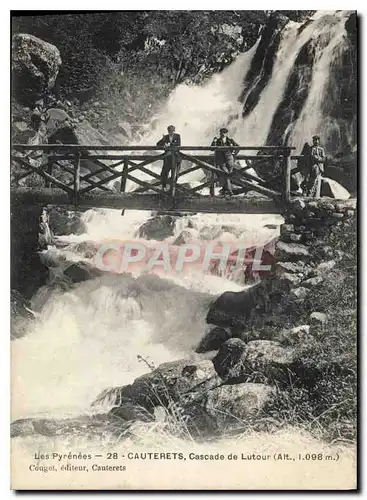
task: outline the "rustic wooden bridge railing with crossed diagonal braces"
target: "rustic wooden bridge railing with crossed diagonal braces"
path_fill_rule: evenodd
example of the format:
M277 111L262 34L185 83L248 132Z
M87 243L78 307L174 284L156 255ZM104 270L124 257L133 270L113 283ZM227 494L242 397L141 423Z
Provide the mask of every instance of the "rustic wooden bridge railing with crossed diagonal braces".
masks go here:
M250 160L246 166L225 173L215 164L216 151L236 151L236 160ZM106 146L75 144L14 144L11 160L16 172L12 172L13 182L19 182L28 176L41 177L45 188L59 188L72 198L74 204L84 194L95 189L116 192L111 188L112 181L119 182L121 193L126 191L127 181L138 187L134 193L154 191L162 197L175 199L177 196L200 196L200 192L209 188L214 195L216 176L228 177L235 187L235 194L249 190L256 191L272 199L290 198L292 160L300 158L291 156L292 147L283 146L180 146L165 148L162 146ZM245 153L241 153L244 151ZM136 154L140 152L140 154ZM206 152L206 153L205 153ZM246 152L252 154L246 154ZM257 153L256 153L257 152ZM143 154L142 154L143 153ZM199 154L198 154L199 153ZM203 154L204 153L204 154ZM256 153L256 154L255 154ZM179 168L180 162L187 160L190 167ZM171 166L170 190L161 188L161 176L155 170L147 168L157 161L169 161ZM251 172L254 162L273 162L280 166L281 189L273 189L269 182ZM204 170L206 179L198 186L187 187L184 177L196 170ZM151 179L147 181L136 177L140 171ZM135 172L135 175L133 175Z

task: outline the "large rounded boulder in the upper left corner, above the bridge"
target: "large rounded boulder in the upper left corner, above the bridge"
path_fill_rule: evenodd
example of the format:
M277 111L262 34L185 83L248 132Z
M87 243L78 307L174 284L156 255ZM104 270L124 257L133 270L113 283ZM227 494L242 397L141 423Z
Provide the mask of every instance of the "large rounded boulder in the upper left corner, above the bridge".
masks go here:
M16 98L34 104L55 85L61 65L55 45L25 33L13 36L12 72Z

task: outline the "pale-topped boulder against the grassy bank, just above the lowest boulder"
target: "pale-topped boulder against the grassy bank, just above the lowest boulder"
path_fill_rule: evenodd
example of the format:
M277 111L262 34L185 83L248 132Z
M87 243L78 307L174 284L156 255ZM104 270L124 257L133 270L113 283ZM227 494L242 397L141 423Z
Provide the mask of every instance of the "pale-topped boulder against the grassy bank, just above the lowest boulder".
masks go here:
M252 340L245 344L230 339L213 359L219 376L227 383L287 380L287 368L294 362L294 353L272 340Z

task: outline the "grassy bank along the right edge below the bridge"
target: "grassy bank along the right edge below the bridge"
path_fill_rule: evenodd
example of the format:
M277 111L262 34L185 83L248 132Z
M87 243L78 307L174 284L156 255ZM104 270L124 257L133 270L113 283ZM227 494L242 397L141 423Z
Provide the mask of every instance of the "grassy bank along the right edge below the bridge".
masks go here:
M326 244L343 252L337 265L313 289L299 318L313 311L327 322L311 327L297 347L299 366L308 376L291 386L271 409L284 425L301 425L328 441L354 441L357 435L357 238L356 219L337 225Z

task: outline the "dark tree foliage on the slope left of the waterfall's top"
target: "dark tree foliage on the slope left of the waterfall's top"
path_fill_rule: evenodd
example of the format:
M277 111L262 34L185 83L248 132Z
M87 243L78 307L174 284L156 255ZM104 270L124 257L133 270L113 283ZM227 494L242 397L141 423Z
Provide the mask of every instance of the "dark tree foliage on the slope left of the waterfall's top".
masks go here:
M196 77L203 65L209 73L222 69L253 45L265 21L264 11L122 11L14 17L12 28L58 47L59 91L72 97L98 88L114 64L173 83Z

